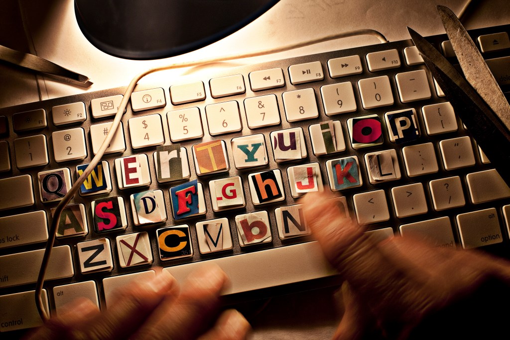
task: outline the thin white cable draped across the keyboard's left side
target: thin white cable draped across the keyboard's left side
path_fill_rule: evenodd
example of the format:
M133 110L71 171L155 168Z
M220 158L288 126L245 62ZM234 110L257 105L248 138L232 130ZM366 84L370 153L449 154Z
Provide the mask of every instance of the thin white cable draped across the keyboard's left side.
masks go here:
M112 141L112 138L115 135L115 132L117 131L117 128L119 126L120 119L122 118L124 109L127 106L127 102L131 98L131 93L133 93L133 90L135 89L135 86L140 81L140 79L142 79L143 77L145 77L151 73L162 71L162 70L173 69L173 68L183 68L183 67L190 67L190 66L197 66L197 65L205 65L205 64L233 60L233 59L258 57L258 56L267 55L267 54L274 54L274 53L278 53L278 52L289 51L289 50L293 50L294 48L309 46L309 45L324 42L324 41L352 37L352 36L358 36L358 35L372 35L372 36L376 37L377 39L379 39L379 41L381 43L388 42L388 40L386 39L386 37L384 35L382 35L381 33L377 32L375 30L369 30L369 29L355 30L355 31L343 32L343 33L331 34L331 35L327 35L325 37L321 37L321 38L317 38L317 39L312 39L312 40L308 40L308 41L304 41L304 42L289 44L289 45L286 45L283 47L273 48L271 50L251 52L251 53L242 54L242 55L230 55L230 56L226 56L226 57L217 57L217 58L211 58L211 59L176 63L176 64L171 64L171 65L166 65L166 66L155 67L155 68L146 70L146 71L142 72L141 74L139 74L138 76L136 76L135 78L133 78L133 80L131 81L129 86L127 86L127 88L124 92L124 97L122 98L122 101L120 102L120 105L117 109L117 113L115 114L115 117L113 118L113 122L112 122L112 126L110 127L110 131L108 132L108 135L106 136L105 140L103 141L103 144L101 144L101 147L99 148L97 154L90 161L89 165L87 166L87 168L85 169L83 174L76 180L76 182L74 182L72 187L69 189L69 191L66 193L66 195L62 198L59 205L55 209L55 213L53 215L53 220L52 220L52 225L50 226L50 229L49 229L49 237L48 237L48 241L46 243L46 249L44 251L44 256L42 259L41 269L39 271L39 277L37 279L37 285L36 285L36 291L35 291L36 305L37 305L39 314L41 315L41 319L43 321L47 321L49 319L49 317L46 314L46 311L44 310L44 307L43 307L41 293L42 293L42 286L44 284L44 276L46 274L49 257L52 253L53 245L55 242L55 235L57 234L58 223L60 221L60 215L62 213L62 210L64 210L67 203L69 203L69 201L74 197L75 193L78 191L78 189L80 188L82 183L90 175L92 170L95 168L97 163L101 160L101 158L105 154L105 151L108 148L108 145Z

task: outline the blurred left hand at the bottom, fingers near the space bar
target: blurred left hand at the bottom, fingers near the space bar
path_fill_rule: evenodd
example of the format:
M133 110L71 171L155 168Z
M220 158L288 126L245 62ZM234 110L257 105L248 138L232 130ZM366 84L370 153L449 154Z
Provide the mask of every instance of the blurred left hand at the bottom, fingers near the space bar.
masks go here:
M149 282L120 289L116 303L104 312L84 298L66 305L31 338L244 339L250 326L241 313L226 310L218 317L226 283L226 274L213 264L191 273L182 289L160 271Z

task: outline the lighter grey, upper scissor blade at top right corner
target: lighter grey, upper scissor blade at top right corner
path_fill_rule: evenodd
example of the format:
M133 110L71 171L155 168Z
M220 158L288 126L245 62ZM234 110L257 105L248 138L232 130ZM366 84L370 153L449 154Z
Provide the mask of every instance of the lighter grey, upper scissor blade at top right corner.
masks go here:
M437 6L446 34L467 81L510 131L510 105L461 21L445 6Z

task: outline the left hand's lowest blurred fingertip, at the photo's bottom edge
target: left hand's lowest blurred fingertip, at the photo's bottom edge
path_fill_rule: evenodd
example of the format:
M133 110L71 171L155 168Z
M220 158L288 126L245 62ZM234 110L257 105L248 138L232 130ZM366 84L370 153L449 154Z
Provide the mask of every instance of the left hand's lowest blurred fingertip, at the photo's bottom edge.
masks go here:
M242 340L251 329L243 314L235 309L221 313L212 329L201 335L198 340Z

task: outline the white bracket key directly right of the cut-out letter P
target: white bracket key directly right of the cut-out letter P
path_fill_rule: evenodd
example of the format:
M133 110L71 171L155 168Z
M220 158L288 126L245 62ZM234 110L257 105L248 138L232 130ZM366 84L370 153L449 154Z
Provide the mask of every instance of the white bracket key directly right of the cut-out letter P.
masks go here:
M450 102L425 105L422 107L423 122L427 134L437 135L457 131L457 119Z

